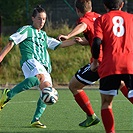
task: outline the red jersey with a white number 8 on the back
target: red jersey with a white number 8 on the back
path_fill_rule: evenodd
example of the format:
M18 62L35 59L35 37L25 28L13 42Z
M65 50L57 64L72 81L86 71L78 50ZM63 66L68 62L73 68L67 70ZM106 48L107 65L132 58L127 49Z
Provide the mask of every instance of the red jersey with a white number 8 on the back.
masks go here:
M95 21L95 35L102 40L100 78L133 74L133 14L114 10Z

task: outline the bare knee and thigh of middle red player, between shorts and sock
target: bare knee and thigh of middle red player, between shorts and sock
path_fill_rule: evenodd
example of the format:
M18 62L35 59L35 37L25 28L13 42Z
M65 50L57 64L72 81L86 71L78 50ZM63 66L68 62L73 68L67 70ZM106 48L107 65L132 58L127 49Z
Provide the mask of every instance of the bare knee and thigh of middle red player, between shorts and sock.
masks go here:
M73 93L73 95L76 95L77 93L81 92L83 90L83 87L85 87L85 85L80 83L75 78L75 76L73 76L69 83L69 89Z

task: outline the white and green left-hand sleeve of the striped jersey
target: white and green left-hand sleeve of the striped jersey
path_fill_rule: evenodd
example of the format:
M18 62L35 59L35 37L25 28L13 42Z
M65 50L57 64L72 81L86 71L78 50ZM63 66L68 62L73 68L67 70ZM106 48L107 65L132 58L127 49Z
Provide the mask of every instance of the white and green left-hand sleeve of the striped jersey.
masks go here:
M10 41L13 41L16 45L24 41L28 36L27 26L20 28L16 33L9 37Z

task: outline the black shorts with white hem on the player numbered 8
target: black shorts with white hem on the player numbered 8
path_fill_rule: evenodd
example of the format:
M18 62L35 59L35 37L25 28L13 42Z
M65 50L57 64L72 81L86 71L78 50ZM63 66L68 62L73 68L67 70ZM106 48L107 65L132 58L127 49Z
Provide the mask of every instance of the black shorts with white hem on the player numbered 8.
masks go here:
M116 74L100 79L100 92L103 94L117 95L121 81L124 81L127 88L132 89L132 74Z

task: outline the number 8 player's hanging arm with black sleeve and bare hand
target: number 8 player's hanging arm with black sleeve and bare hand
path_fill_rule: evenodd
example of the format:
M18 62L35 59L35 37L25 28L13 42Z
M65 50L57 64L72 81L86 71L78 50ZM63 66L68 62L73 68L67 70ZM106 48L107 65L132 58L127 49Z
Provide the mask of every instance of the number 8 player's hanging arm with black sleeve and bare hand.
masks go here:
M91 64L91 70L96 71L97 67L99 65L98 63L98 58L100 54L100 45L101 45L102 40L98 37L95 37L93 40L92 44L92 57L93 57L93 62Z

